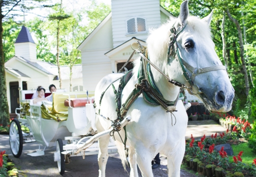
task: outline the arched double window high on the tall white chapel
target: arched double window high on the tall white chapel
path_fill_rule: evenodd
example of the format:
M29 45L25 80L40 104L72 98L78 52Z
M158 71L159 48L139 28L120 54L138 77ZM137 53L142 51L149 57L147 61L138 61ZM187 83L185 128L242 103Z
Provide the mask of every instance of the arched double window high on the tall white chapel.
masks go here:
M135 17L126 21L127 33L145 32L146 20L141 17Z

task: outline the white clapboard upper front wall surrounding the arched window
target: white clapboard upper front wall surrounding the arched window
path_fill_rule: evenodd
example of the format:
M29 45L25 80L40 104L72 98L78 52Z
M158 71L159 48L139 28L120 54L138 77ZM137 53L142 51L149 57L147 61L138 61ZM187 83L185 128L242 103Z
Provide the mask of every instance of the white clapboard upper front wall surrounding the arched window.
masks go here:
M139 33L127 34L126 20L132 17L146 19L146 30L160 26L160 0L112 0L112 31L114 48L131 37L147 38ZM138 37L139 36L139 37Z

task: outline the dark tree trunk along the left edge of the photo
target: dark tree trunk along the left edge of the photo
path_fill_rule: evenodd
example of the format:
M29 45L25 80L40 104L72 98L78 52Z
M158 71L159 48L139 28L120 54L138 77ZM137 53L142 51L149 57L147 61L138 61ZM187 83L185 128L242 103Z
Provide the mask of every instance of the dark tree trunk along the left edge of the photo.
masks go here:
M6 126L9 124L9 106L7 101L7 89L4 69L4 54L2 45L2 0L0 0L0 124Z

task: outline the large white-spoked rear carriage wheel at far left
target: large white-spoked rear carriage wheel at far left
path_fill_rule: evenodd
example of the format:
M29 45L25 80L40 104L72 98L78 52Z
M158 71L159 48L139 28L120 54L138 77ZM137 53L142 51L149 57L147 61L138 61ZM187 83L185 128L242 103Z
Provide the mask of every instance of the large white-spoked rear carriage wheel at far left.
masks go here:
M10 124L9 142L13 156L20 157L23 149L23 136L20 122L15 118Z

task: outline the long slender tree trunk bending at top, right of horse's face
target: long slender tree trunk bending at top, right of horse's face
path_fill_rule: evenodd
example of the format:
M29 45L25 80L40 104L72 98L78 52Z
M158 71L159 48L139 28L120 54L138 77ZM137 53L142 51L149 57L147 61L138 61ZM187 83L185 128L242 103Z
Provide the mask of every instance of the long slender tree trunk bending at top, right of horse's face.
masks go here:
M244 44L243 44L242 30L241 30L241 27L240 27L238 21L231 16L228 9L226 9L226 13L227 13L228 18L235 24L237 31L238 31L238 38L239 38L239 45L240 45L240 57L242 60L242 66L243 66L244 77L245 77L245 91L246 91L246 96L248 96L250 87L249 87L248 74L247 74L247 70L246 70L246 62L244 59Z

